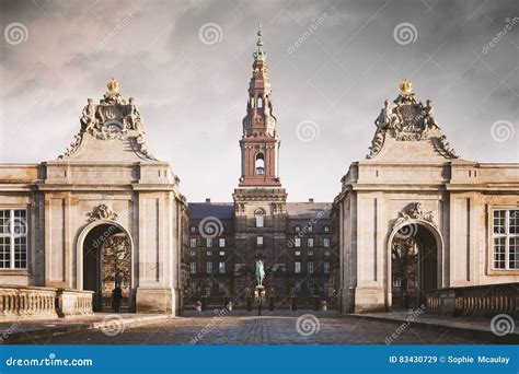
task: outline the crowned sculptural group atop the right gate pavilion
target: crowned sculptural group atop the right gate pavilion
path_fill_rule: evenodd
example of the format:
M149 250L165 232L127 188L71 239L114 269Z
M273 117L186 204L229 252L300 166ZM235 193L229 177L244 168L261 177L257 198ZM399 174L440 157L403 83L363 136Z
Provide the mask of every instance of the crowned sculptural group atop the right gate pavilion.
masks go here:
M458 159L455 151L441 135L436 121L432 101L427 100L424 105L413 93L413 83L404 80L400 84L400 94L391 103L384 102L384 107L374 119L377 130L371 141L367 159L376 156L385 141L392 137L397 141L419 141L431 139L435 149L446 159Z

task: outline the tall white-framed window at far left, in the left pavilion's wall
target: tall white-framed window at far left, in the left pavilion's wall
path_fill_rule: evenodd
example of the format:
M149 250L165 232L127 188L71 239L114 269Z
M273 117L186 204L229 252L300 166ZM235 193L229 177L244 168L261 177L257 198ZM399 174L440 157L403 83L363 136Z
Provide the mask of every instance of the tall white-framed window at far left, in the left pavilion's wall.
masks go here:
M27 211L0 210L0 269L27 268Z

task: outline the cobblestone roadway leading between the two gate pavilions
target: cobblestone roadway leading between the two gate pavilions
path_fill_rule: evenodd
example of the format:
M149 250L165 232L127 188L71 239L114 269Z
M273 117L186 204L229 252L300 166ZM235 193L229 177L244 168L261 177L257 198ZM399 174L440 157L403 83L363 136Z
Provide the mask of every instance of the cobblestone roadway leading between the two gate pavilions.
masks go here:
M397 324L339 316L335 312L266 314L230 312L187 314L166 320L56 336L38 344L478 344L487 341L460 332L435 331L408 326L401 334ZM118 332L114 336L114 332Z

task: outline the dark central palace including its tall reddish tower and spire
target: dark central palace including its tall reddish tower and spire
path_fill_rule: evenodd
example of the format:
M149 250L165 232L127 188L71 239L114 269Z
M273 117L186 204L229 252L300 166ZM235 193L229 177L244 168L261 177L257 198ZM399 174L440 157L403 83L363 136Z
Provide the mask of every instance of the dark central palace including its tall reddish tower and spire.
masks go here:
M256 284L254 264L265 264L265 297L276 307L296 296L310 305L319 297L334 302L338 257L331 246L328 202L287 202L279 171L280 140L272 89L257 33L246 115L240 140L241 177L233 202L189 203L189 284L186 304L207 297L243 305Z

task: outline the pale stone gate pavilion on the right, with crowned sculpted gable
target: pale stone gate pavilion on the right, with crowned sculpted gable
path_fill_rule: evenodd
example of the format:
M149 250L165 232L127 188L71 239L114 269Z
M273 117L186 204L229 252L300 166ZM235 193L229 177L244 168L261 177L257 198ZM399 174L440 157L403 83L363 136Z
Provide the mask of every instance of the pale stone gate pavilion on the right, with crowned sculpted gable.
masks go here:
M400 306L392 292L402 278L414 278L418 303L431 289L517 282L519 164L458 156L407 81L376 126L334 201L342 311ZM395 243L405 238L419 270L395 279Z

